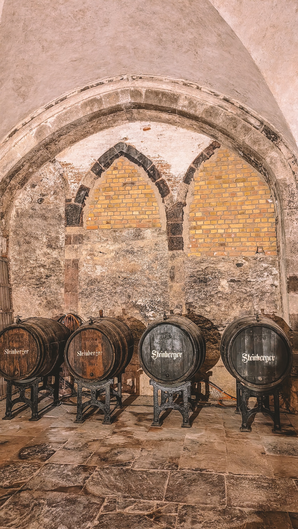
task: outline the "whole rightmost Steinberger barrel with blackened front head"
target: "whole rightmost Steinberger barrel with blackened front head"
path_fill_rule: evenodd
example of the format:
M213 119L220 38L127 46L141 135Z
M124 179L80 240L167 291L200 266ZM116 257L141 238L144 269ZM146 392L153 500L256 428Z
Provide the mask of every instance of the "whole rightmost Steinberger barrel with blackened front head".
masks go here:
M233 377L260 392L281 384L293 362L286 334L263 316L245 316L230 323L222 335L221 358Z

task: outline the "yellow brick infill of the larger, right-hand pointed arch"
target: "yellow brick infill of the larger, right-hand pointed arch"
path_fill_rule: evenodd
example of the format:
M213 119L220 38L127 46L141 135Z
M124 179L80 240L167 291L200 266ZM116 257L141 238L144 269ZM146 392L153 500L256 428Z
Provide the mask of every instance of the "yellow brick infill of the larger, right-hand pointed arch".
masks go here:
M277 252L269 187L237 154L221 148L194 176L188 255L237 257L257 251Z

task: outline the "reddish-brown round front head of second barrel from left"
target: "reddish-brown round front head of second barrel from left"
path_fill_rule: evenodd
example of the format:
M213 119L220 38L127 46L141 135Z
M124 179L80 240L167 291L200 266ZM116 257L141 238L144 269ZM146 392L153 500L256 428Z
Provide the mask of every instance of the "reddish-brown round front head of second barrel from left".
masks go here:
M66 361L76 378L92 382L105 379L111 371L114 353L103 333L85 327L70 338Z

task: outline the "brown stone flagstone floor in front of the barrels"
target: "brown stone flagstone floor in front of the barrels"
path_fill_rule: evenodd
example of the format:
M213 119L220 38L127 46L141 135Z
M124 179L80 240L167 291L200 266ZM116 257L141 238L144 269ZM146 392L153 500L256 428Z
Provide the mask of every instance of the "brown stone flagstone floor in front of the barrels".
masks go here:
M218 405L192 428L173 411L151 427L150 397L126 397L111 426L75 414L68 401L0 422L0 529L298 528L297 415L276 435L261 414L241 433Z

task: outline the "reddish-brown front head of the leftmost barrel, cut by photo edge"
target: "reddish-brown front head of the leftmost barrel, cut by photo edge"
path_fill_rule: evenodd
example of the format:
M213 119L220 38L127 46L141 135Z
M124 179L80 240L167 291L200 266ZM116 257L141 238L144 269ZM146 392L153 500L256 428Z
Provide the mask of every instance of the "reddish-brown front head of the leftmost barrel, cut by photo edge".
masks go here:
M7 379L28 378L38 364L38 346L32 334L10 327L0 335L0 371Z

